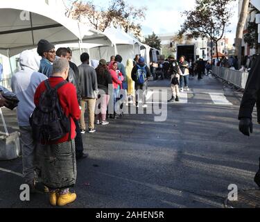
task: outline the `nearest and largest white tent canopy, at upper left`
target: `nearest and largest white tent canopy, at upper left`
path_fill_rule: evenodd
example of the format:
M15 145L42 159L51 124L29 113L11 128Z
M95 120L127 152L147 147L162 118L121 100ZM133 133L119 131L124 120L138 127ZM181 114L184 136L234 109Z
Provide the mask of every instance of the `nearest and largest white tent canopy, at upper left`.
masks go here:
M37 1L1 2L0 53L15 56L21 51L37 47L41 39L53 44L112 44L109 38L94 28L56 14L51 7Z

